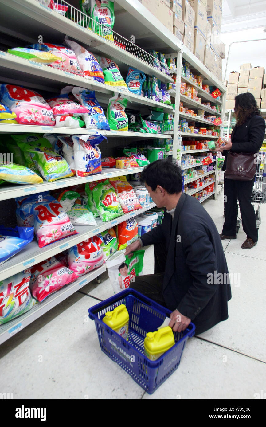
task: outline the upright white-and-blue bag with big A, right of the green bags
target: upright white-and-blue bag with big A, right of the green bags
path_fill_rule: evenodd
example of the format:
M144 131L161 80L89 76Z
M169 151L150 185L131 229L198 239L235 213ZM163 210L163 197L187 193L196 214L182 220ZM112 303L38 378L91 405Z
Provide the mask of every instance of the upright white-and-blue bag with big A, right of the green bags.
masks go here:
M73 139L74 162L77 176L101 173L101 152L98 144L106 137L102 135L75 135Z

